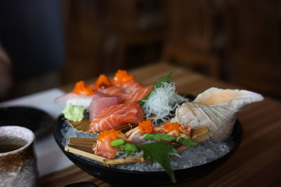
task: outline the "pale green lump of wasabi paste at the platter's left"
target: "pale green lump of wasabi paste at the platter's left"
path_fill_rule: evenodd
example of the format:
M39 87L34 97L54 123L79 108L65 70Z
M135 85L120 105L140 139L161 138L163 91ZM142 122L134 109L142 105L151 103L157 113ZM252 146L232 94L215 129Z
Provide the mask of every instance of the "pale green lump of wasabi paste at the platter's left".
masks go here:
M84 118L84 107L77 106L73 104L67 104L65 109L63 109L63 115L67 120L73 120L74 122L83 120Z

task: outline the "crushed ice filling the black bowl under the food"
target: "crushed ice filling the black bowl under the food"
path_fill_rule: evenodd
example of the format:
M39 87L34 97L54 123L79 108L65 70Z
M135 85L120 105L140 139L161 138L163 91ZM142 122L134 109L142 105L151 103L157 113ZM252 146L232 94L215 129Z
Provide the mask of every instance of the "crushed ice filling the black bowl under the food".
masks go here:
M63 124L63 128L61 132L64 134L64 137L61 139L63 146L67 145L67 141L70 137L85 137L85 138L96 138L97 135L94 134L85 134L83 132L75 131L70 125L67 123ZM228 139L227 141L215 143L211 140L202 141L198 146L191 147L179 153L179 156L173 156L170 158L171 166L173 169L186 169L189 167L195 167L197 165L203 165L207 162L211 162L220 158L223 155L226 155L234 145L234 141ZM93 162L99 165L103 165L100 162L95 160L91 160L89 158L84 158L83 156L77 155L80 158L87 160L89 162ZM164 171L161 165L157 162L151 164L150 162L137 162L131 164L124 165L114 165L107 166L117 169L131 170L131 171L139 171L139 172L156 172L156 171Z

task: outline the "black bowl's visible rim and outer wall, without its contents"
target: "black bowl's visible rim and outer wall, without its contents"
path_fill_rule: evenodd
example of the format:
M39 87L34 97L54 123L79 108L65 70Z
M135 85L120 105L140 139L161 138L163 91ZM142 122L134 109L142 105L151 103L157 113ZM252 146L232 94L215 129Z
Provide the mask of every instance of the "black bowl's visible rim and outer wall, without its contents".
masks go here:
M84 160L73 153L64 151L63 143L61 139L64 137L61 129L63 125L67 123L67 120L63 119L63 116L60 116L55 121L54 127L54 137L55 141L58 143L60 149L67 155L67 157L74 162L75 165L80 167L85 172L95 176L96 178L106 181L107 183L112 183L115 185L122 186L153 186L153 185L164 185L164 184L172 184L171 179L166 174L166 172L136 172L136 171L128 171L123 169L115 169L110 167L105 167L103 165L98 165L93 162L89 162ZM218 158L212 162L208 162L204 165L199 165L197 167L190 167L187 169L177 169L174 170L176 175L177 183L181 183L184 181L189 181L192 179L198 179L210 172L213 172L216 168L223 165L224 162L230 155L236 151L237 147L240 145L242 141L242 126L237 120L235 126L233 128L233 141L234 146L229 153L223 155L223 157Z

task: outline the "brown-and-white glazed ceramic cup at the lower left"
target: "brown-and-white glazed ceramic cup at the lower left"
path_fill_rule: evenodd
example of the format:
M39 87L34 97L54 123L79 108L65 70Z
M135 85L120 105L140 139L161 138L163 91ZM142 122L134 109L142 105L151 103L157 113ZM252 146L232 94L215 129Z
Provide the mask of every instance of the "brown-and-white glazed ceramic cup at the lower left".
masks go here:
M0 127L0 186L37 186L34 134L20 126Z

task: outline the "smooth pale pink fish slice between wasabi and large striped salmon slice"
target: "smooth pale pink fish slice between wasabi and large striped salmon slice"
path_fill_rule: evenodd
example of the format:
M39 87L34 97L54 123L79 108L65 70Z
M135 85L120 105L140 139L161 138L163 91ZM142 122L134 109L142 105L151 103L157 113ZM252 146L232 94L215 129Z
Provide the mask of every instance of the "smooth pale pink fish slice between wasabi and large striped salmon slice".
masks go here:
M90 120L93 120L100 111L107 107L115 104L120 104L122 97L120 96L105 96L105 95L95 95L89 106Z

